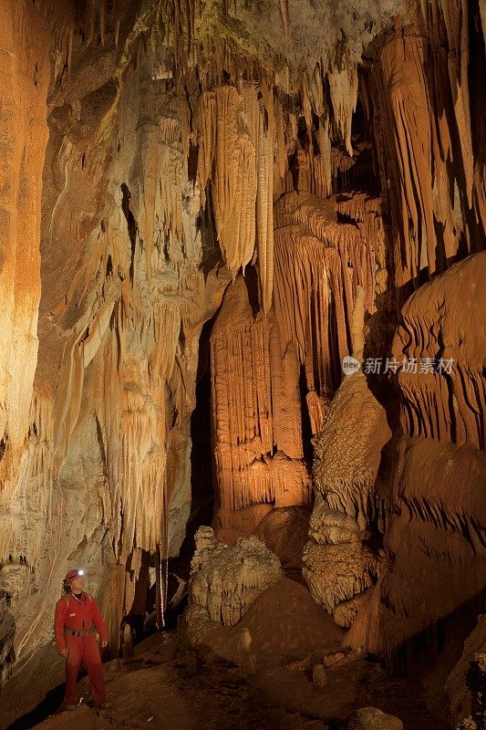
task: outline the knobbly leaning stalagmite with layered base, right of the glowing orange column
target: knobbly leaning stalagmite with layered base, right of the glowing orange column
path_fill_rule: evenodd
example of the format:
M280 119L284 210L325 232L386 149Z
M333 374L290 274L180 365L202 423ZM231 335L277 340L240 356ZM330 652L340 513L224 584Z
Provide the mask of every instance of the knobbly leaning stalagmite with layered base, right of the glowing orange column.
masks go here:
M374 490L382 446L390 436L386 415L363 373L349 375L331 402L315 443L315 506L303 553L303 575L315 600L349 628L376 582L380 558L363 544L377 523Z

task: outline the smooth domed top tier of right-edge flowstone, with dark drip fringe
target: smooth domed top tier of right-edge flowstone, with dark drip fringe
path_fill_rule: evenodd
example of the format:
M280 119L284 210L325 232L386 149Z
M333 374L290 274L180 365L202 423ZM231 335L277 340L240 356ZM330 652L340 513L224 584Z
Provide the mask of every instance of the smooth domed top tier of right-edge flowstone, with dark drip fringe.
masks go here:
M472 255L421 287L402 309L393 355L418 364L417 372L413 367L398 371L408 403L400 416L410 436L468 443L484 451L485 271L486 253Z

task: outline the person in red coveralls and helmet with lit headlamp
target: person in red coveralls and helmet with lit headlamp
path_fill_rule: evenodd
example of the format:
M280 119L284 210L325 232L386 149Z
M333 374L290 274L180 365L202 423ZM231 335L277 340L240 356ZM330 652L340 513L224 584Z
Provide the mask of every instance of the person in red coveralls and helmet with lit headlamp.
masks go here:
M109 707L94 629L98 631L101 646L108 646L108 634L96 600L84 591L82 570L69 570L63 581L65 595L57 601L54 633L57 651L66 658L67 710L76 708L76 683L81 662L88 671L93 699L98 707ZM94 624L94 628L93 628Z

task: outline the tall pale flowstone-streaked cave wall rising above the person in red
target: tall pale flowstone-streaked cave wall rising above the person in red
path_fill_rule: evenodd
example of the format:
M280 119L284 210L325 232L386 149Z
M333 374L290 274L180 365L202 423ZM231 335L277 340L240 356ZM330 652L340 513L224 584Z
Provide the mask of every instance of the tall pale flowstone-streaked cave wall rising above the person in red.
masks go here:
M116 653L141 550L158 549L164 559L177 554L191 505L199 334L229 280L224 268L202 270L200 195L188 177L189 140L181 132L187 99L168 92L163 54L140 43L147 25L142 13L133 26L137 8L129 5L121 26L117 8L102 19L92 5L91 41L91 18L79 16L77 5L64 19L56 4L25 8L33 26L47 28L40 44L47 57L43 86L37 90L36 78L31 84L44 106L28 108L44 123L43 135L32 138L39 150L28 158L27 179L35 173L37 184L28 198L35 214L24 214L36 227L32 260L17 257L35 312L26 317L29 299L18 299L16 311L13 300L26 333L19 325L10 335L18 351L5 373L29 401L23 428L18 417L5 416L2 442L0 582L16 614L18 665L50 640L70 565L85 568ZM12 15L21 39L26 32L32 39L33 27ZM50 87L49 44L58 62ZM23 47L11 53L26 63ZM30 71L36 59L29 62ZM16 141L32 143L20 123ZM25 204L23 189L17 198ZM6 233L15 254L20 232ZM19 349L25 340L30 352ZM15 388L5 384L8 397ZM15 403L22 405L20 397Z

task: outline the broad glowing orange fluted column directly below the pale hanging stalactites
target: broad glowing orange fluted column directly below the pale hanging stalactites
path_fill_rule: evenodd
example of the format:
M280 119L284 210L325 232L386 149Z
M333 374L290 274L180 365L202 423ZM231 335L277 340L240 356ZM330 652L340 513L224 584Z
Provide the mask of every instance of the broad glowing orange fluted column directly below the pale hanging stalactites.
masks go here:
M291 351L282 352L271 315L253 321L241 277L213 328L212 373L222 510L306 504L297 363Z

